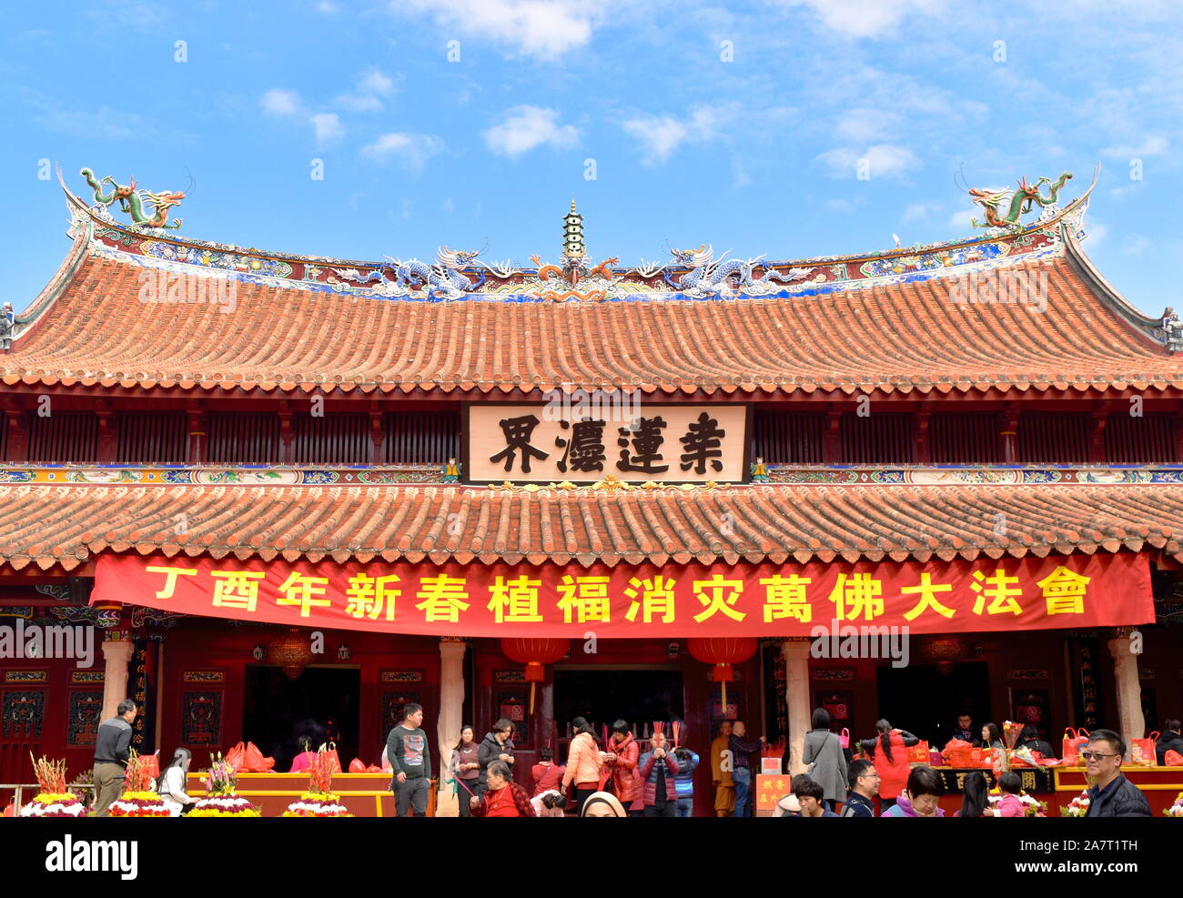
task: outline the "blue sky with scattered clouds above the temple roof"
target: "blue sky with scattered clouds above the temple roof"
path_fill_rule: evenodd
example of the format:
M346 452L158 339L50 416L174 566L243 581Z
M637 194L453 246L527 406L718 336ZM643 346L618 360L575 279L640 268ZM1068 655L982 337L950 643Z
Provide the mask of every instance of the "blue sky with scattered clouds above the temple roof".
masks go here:
M1086 251L1144 311L1181 298L1165 1L127 0L5 26L17 309L67 248L43 159L79 194L83 166L192 185L175 214L194 238L353 259L487 240L522 264L557 258L573 196L596 260L666 241L794 259L968 235L958 173L1071 170L1071 198L1100 162Z

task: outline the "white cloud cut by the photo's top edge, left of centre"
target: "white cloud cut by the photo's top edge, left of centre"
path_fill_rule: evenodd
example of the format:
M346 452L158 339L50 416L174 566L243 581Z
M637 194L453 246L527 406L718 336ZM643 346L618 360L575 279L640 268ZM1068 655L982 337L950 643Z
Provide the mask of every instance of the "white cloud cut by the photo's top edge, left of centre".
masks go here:
M522 56L556 60L592 39L602 21L606 0L392 0L390 9L407 7L434 14L454 34L492 40ZM454 37L448 34L448 38Z

